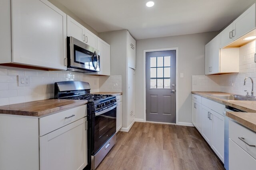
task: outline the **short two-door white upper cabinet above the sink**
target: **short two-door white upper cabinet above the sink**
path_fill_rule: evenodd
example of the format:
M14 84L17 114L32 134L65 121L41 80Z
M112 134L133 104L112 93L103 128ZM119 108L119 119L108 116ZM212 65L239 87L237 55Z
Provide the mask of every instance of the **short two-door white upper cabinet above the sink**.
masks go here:
M220 48L225 47L255 28L255 4L220 33Z

